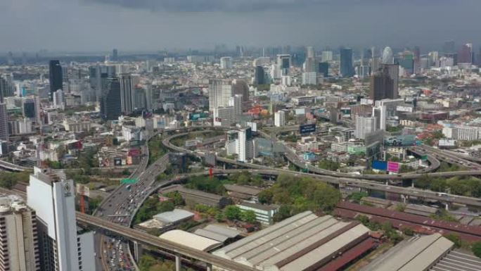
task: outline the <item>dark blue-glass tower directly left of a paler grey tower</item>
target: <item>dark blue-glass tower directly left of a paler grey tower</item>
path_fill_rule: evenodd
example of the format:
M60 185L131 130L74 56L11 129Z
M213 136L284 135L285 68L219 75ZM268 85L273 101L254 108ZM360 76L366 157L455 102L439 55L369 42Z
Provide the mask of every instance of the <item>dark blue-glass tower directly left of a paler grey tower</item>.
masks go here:
M105 80L101 96L101 117L104 120L117 120L122 115L120 80L110 77Z

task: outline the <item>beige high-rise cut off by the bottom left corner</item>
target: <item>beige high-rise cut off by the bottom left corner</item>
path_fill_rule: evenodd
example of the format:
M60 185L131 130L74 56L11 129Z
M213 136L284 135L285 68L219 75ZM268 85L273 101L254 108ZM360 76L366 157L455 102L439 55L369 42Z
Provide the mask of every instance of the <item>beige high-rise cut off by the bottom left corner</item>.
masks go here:
M0 198L0 236L0 270L41 270L37 218L20 197Z

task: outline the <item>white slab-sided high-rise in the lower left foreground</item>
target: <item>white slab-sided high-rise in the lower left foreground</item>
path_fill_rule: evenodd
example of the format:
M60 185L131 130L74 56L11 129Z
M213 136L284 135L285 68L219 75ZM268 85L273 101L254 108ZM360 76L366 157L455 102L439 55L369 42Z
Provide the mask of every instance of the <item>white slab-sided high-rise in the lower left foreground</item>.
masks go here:
M77 232L72 179L60 179L49 170L34 168L27 204L37 213L42 270L96 270L94 234Z

